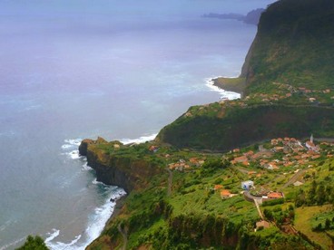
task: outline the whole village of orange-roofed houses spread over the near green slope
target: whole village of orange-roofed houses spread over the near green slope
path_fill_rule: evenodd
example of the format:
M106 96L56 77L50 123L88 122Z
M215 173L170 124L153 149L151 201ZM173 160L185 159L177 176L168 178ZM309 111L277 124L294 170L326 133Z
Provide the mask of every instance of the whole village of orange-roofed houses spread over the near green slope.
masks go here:
M150 151L156 153L159 148L151 146ZM209 189L213 193L218 193L222 200L243 195L246 200L262 202L270 199L284 198L283 188L274 190L268 183L260 181L270 173L278 176L289 176L289 181L283 186L289 185L298 187L303 185L305 179L303 174L314 167L314 163L321 159L334 157L334 143L319 141L316 142L313 135L309 139L300 140L295 138L270 139L254 149L232 149L225 154L222 159L229 160L230 168L236 169L240 174L239 191L234 188L234 192L223 184L215 184ZM165 154L164 158L171 160L170 154ZM192 157L190 159L178 159L168 164L170 171L188 172L201 168L206 157ZM242 179L243 178L243 179ZM226 179L226 178L225 178ZM227 183L225 181L225 183Z

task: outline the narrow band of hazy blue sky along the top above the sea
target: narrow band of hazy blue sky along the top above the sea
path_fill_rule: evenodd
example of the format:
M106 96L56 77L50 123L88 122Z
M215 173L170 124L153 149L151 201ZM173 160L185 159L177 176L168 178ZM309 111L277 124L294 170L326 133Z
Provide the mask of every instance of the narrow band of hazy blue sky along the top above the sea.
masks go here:
M273 0L1 0L0 13L56 14L204 14L207 12L246 14Z

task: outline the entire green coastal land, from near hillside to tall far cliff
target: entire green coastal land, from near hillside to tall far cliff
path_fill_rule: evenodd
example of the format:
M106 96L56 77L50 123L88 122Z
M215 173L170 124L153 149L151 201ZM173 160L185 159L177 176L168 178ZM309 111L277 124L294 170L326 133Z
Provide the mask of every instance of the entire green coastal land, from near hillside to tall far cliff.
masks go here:
M141 144L84 139L97 180L128 192L87 248L331 249L334 144L314 138L334 137L333 16L329 0L276 2L241 77L214 80L240 100L191 107Z

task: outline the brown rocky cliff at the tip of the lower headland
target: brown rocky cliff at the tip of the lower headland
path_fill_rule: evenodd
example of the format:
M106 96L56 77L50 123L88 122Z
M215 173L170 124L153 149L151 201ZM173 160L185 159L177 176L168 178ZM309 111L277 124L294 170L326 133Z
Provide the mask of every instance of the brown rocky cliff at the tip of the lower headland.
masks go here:
M83 139L79 152L87 157L88 166L96 171L97 181L123 187L126 192L130 192L146 187L152 176L163 171L145 159L118 154L118 150L121 150L119 147L125 146L119 141L107 142L102 138Z

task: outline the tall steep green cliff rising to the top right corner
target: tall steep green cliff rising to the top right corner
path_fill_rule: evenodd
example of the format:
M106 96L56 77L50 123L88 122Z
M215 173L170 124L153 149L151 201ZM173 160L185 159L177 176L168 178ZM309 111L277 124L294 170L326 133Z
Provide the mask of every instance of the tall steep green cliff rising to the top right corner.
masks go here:
M333 54L334 2L280 0L261 14L241 75L248 93L270 82L333 87Z

